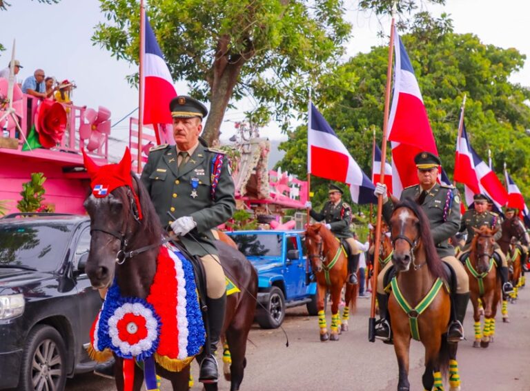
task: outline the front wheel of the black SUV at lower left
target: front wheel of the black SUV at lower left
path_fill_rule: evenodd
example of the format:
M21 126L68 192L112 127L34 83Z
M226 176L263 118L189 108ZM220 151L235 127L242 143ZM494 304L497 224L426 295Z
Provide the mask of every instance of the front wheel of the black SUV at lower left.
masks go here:
M38 325L26 339L18 390L63 390L66 384L66 348L61 334Z

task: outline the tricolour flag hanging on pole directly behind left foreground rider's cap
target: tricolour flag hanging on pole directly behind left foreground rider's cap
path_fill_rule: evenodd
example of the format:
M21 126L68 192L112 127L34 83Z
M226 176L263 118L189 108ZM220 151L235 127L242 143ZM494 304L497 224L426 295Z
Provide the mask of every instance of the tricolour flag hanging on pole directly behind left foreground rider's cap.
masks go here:
M172 123L169 103L177 96L173 78L146 15L144 124Z

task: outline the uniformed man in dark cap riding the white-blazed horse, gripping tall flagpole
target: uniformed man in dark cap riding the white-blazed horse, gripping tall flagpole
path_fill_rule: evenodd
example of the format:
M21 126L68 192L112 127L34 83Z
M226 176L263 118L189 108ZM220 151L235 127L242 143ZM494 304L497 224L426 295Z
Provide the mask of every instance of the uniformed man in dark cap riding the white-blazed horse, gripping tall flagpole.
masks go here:
M458 232L460 228L460 195L453 186L436 183L438 178L438 166L441 162L437 156L430 152L421 152L415 156L414 162L418 168L418 179L420 184L405 188L401 193L401 199L415 199L422 206L429 223L431 234L436 245L438 255L449 263L455 270L457 278L456 292L452 294L455 305L456 318L449 325L447 339L449 342L458 342L464 339L464 327L462 325L469 302L469 278L460 261L455 258L455 249L449 244L449 238ZM394 209L393 202L386 194L386 186L377 183L374 194L383 197L382 214L388 223ZM391 266L389 262L377 276L377 300L379 301L380 317L379 327L375 330L375 336L386 342L391 340L391 329L388 321L386 307L388 295L384 292L383 279L386 270Z

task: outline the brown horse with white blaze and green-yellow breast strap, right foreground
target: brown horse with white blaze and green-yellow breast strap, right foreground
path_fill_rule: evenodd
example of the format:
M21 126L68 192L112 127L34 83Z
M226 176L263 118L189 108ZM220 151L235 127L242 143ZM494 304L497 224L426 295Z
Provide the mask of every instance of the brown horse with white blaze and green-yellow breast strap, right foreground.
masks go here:
M390 220L394 252L389 311L395 355L399 367L398 391L410 389L409 348L411 338L425 348L425 390L443 390L442 374L451 365L451 390L460 390L457 344L449 344L446 332L451 300L444 288L446 273L436 253L429 220L413 201L395 205ZM434 387L434 388L433 388Z

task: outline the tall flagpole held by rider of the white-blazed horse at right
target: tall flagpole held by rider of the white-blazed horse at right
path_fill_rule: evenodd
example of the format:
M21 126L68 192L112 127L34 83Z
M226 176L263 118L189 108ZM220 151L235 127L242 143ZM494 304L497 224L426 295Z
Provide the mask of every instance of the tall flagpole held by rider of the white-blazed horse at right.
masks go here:
M386 90L384 92L384 117L383 117L383 140L381 145L381 172L380 172L380 183L384 183L384 166L386 163L386 138L388 134L389 126L389 106L390 106L390 94L391 94L391 78L392 78L392 59L393 59L393 47L394 47L394 23L395 23L395 12L397 8L395 2L392 8L392 23L390 28L390 43L389 43L389 66L386 70ZM379 262L376 261L377 254L381 245L381 219L382 219L382 208L383 208L383 197L380 195L377 197L377 219L375 223L375 243L373 249L373 275L372 275L372 297L371 297L371 309L369 318L369 330L368 340L370 342L375 341L375 296L377 292L377 273L379 272Z

